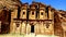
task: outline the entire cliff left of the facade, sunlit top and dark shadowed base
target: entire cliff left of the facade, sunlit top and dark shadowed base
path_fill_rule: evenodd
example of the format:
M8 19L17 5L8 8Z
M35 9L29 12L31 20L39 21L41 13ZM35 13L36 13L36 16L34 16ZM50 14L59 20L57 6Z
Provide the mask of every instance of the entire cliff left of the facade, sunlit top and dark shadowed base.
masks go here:
M11 11L21 5L20 0L0 0L1 33L10 32Z

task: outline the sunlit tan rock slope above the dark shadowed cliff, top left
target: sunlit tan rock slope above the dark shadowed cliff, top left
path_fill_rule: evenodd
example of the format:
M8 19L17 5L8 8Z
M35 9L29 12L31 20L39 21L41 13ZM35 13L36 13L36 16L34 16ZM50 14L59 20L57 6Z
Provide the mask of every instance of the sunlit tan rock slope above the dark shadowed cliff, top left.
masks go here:
M0 0L0 9L8 8L8 9L14 9L18 5L20 5L20 0Z

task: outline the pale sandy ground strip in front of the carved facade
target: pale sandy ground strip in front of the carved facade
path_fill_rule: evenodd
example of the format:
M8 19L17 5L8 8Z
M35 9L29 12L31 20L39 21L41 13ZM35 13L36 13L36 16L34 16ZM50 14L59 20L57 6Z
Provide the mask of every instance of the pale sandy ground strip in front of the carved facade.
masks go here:
M0 37L57 37L57 36L53 36L53 35L34 35L34 34L30 34L30 35L18 35L18 34L6 34L6 35L0 35Z

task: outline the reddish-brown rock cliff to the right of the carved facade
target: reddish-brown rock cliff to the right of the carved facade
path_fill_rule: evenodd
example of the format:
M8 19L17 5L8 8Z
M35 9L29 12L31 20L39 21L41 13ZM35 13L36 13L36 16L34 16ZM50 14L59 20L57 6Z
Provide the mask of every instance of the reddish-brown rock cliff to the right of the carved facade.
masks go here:
M66 11L57 11L54 13L54 15L55 35L61 35L61 37L63 37L66 32Z

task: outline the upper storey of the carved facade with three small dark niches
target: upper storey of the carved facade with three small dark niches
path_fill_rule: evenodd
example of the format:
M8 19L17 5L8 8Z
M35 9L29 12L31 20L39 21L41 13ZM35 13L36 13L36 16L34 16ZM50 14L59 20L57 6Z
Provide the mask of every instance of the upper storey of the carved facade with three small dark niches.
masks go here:
M20 16L19 18L22 20L54 20L54 11L51 5L45 5L41 2L22 3L16 9L16 16Z

